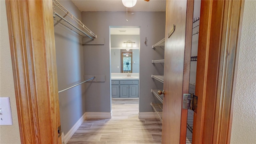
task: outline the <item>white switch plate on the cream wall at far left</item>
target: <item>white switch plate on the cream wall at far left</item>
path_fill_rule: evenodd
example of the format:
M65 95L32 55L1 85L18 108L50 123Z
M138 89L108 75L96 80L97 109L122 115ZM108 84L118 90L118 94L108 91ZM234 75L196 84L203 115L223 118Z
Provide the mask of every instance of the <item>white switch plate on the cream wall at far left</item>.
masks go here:
M0 125L12 125L12 111L9 97L0 97Z

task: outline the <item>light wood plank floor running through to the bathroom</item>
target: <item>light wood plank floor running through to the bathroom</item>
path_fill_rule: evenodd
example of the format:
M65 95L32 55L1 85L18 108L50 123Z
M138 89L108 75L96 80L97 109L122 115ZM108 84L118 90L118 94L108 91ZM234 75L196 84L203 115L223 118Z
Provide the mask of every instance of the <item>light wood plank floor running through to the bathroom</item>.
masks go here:
M161 144L158 119L138 118L138 100L112 100L111 119L86 119L68 144Z

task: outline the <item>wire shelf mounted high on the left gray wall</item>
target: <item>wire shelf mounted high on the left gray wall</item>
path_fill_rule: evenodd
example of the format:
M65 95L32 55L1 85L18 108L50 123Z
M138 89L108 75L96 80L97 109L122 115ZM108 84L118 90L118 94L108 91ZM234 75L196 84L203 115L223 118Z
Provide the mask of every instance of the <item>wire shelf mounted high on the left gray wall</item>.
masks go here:
M80 20L72 15L64 6L62 6L57 0L52 0L53 6L53 18L55 20L54 26L57 24L63 24L70 30L73 30L80 36L87 36L90 39L97 38L89 28L87 28Z

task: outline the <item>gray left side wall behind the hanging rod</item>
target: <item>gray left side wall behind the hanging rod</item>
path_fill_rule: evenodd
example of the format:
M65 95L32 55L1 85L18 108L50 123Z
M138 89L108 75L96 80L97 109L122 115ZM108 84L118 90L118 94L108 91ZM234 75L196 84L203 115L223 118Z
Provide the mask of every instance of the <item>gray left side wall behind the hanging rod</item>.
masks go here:
M81 19L81 12L71 1L59 1L76 18ZM84 80L84 56L82 37L62 24L54 27L58 89L63 90ZM62 132L74 126L85 112L84 84L59 94L60 123Z

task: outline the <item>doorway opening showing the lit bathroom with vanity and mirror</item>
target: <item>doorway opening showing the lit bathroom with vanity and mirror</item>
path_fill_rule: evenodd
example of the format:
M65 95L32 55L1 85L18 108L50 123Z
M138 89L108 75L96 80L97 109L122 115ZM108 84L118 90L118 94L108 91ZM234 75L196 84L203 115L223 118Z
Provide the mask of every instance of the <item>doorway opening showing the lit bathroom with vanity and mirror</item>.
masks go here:
M110 93L116 104L139 108L140 26L110 26ZM124 111L125 113L125 111Z

